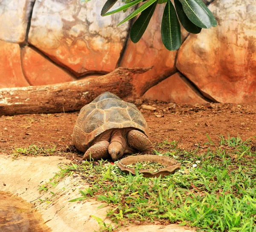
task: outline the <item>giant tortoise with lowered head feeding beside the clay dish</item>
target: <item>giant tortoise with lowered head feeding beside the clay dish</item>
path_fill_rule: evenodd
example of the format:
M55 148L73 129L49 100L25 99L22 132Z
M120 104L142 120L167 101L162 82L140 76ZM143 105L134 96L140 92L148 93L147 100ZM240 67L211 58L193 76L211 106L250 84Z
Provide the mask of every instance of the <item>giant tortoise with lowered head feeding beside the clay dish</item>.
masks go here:
M83 106L72 134L73 144L84 153L83 160L141 152L151 154L147 123L132 104L105 92Z

